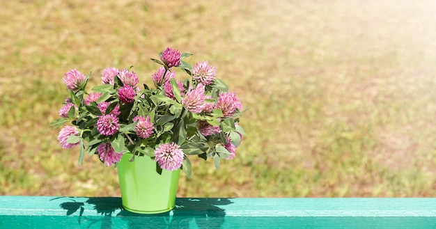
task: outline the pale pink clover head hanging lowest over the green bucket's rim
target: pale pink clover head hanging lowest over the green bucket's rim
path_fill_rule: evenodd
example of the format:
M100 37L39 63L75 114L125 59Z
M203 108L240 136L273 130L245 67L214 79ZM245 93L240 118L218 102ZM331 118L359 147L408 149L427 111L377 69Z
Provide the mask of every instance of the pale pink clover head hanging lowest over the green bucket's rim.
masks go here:
M164 143L155 150L155 161L160 168L174 171L183 163L183 150L176 143Z

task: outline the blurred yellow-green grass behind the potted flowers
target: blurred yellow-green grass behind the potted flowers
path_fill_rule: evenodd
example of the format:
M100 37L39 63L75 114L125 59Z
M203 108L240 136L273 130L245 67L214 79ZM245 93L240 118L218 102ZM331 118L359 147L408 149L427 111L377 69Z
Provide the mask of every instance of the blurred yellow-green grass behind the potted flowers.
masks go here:
M116 169L77 164L58 118L72 68L143 83L166 47L208 60L249 134L178 196L436 194L434 1L1 1L0 194L120 196Z

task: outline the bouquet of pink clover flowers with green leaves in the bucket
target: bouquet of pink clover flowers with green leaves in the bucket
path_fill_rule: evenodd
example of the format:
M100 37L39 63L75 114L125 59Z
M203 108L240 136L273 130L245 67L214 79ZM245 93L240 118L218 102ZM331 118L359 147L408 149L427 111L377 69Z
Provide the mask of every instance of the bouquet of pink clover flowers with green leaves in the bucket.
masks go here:
M58 140L62 148L79 145L79 164L86 153L99 155L111 166L125 153L150 157L156 171L181 168L191 175L187 155L233 159L244 130L240 120L242 104L226 84L216 78L217 70L208 61L192 67L182 61L191 54L167 48L159 54L162 65L153 77L154 88L143 84L130 69L106 68L102 85L86 90L88 76L77 70L65 73L63 81L70 91L59 111L61 118L50 126L61 127ZM132 67L130 67L132 68ZM173 68L180 68L188 79L176 79Z

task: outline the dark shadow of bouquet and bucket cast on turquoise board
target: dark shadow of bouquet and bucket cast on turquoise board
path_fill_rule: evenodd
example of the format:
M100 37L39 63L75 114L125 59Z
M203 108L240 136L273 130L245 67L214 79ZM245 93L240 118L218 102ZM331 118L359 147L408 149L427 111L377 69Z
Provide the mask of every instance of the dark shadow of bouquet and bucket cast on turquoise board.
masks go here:
M56 200L59 198L55 198ZM121 198L91 197L84 202L75 198L66 198L67 202L59 205L66 210L66 215L78 214L77 223L92 227L101 223L101 228L120 226L112 220L114 216L125 221L128 228L221 228L224 223L225 211L219 205L231 204L229 198L178 198L176 207L171 212L161 214L137 214L124 210ZM88 219L84 216L86 205L92 205L99 219Z

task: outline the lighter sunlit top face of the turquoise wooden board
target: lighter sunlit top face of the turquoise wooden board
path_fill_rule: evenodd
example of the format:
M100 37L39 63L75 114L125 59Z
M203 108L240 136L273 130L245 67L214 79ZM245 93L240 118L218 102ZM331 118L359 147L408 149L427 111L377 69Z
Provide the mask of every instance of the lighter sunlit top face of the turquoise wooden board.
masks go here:
M0 196L0 216L126 212L117 197ZM177 198L176 208L161 215L208 212L226 217L436 217L436 198Z

